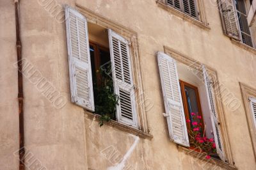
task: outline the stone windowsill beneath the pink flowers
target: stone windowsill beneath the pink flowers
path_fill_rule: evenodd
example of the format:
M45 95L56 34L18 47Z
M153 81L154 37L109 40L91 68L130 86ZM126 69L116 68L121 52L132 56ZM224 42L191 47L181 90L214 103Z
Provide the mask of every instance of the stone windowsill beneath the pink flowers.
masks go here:
M200 153L198 151L189 150L188 148L185 148L184 146L177 145L177 148L179 151L184 152L186 155L190 155L191 157L198 158L200 160L204 160L205 162L209 162L211 164L214 164L219 167L223 167L225 169L234 170L237 169L235 166L232 166L228 164L227 162L223 162L222 160L218 160L217 158L205 158L205 153Z

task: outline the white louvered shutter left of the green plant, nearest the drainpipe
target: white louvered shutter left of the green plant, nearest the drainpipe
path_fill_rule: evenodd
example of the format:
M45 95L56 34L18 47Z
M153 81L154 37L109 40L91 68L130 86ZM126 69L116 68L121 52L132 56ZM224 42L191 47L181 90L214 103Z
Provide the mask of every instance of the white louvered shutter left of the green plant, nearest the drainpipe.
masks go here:
M86 18L65 6L71 101L94 111L92 70Z

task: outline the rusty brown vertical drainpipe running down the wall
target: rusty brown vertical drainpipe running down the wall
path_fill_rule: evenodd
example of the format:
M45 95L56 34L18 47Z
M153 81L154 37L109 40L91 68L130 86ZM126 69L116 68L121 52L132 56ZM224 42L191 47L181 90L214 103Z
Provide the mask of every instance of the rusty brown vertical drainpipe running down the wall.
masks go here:
M17 49L17 64L18 64L18 101L19 101L19 169L24 170L24 119L23 119L23 82L22 82L22 45L20 40L20 17L19 17L19 1L15 3L15 23L16 23L16 49Z

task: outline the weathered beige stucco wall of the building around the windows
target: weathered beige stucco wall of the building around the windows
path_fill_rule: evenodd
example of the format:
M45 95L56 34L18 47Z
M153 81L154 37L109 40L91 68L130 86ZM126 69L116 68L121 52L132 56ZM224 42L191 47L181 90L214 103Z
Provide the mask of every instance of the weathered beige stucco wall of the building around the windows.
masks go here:
M134 169L202 169L204 161L178 151L168 138L155 54L166 45L211 66L217 70L221 84L242 104L239 81L255 86L256 56L223 35L216 3L204 2L211 27L207 31L159 8L155 0L52 1L70 6L78 3L138 33L145 95L154 104L147 112L150 134L154 136L148 140L108 125L99 127L97 121L84 119L81 107L70 103L65 23L52 17L54 14L44 6L45 1L20 1L22 56L51 82L67 104L58 109L42 93L44 89L36 84L40 75L31 78L28 73L30 76L24 78L25 145L34 157L47 169L107 169L130 150L126 166ZM17 169L19 162L13 155L19 149L13 3L1 0L0 13L0 167ZM233 112L227 105L224 109L236 166L256 169L243 105ZM105 154L108 150L115 150L117 158L109 158Z

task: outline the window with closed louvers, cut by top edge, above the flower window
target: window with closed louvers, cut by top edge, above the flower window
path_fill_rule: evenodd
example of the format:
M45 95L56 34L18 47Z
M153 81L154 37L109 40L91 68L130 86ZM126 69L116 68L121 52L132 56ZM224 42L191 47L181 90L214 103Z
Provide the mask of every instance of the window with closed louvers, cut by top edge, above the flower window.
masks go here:
M166 0L166 4L198 19L196 0Z

